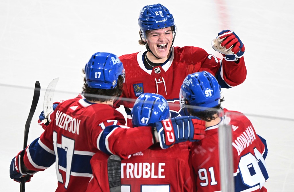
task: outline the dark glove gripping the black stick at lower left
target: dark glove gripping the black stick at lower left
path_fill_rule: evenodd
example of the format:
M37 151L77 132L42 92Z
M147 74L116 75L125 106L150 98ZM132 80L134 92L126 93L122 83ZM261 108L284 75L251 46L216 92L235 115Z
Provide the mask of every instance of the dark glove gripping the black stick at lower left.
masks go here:
M26 149L20 151L11 161L10 164L10 178L14 181L21 182L22 178L25 179L26 182L31 181L31 177L33 175L24 173L24 151Z

